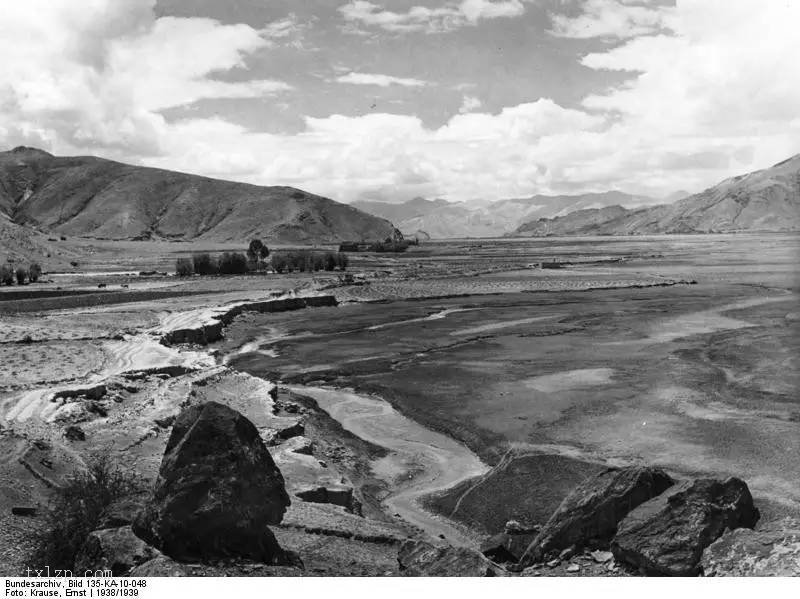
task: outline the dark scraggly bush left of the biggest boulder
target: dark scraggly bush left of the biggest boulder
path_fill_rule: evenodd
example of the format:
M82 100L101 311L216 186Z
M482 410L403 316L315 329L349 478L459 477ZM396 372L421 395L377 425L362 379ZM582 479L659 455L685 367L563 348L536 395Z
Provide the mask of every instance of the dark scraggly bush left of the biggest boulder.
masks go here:
M31 565L71 570L87 535L113 502L141 493L138 478L116 467L107 455L90 461L88 470L74 474L50 504L45 526L34 539Z

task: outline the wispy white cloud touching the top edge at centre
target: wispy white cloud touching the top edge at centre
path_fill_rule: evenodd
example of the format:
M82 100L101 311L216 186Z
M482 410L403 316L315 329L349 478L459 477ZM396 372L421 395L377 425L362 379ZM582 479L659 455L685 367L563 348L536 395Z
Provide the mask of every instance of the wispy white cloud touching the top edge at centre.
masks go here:
M351 0L340 6L339 12L357 26L380 27L395 33L445 33L476 25L483 19L518 17L525 12L525 6L523 0L461 0L436 8L413 6L405 12L393 12L367 0Z

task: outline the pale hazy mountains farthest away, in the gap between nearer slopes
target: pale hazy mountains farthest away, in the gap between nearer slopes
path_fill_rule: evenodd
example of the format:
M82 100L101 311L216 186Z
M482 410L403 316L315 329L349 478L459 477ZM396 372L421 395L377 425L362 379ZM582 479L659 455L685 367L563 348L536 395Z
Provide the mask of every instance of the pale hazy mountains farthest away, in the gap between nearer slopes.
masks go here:
M501 237L523 223L541 217L555 217L583 208L603 208L616 204L651 205L653 198L620 191L581 195L535 195L529 198L499 200L483 206L467 202L414 198L402 204L354 202L353 206L390 219L405 235L424 231L435 239L458 237Z

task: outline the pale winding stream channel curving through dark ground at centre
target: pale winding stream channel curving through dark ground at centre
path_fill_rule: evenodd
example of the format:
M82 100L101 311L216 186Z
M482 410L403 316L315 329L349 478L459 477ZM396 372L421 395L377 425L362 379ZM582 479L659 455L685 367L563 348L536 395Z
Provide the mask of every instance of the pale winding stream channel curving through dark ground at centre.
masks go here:
M419 499L488 471L465 445L428 430L397 412L388 402L352 391L292 386L354 435L385 447L390 453L373 463L375 475L395 491L384 505L433 537L444 535L451 544L472 546L475 539L453 522L422 508Z

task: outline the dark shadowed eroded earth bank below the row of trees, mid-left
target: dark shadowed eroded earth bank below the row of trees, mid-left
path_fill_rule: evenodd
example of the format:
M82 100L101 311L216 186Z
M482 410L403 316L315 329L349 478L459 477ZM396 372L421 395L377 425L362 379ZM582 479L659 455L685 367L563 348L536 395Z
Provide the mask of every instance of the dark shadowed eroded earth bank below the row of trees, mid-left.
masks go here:
M223 337L225 326L244 312L289 312L305 308L320 308L337 306L339 302L333 295L317 295L309 297L287 297L283 299L264 300L259 302L246 302L232 306L229 310L215 316L211 322L199 324L196 327L173 329L166 331L161 336L163 345L178 345L193 343L208 345L219 341Z

